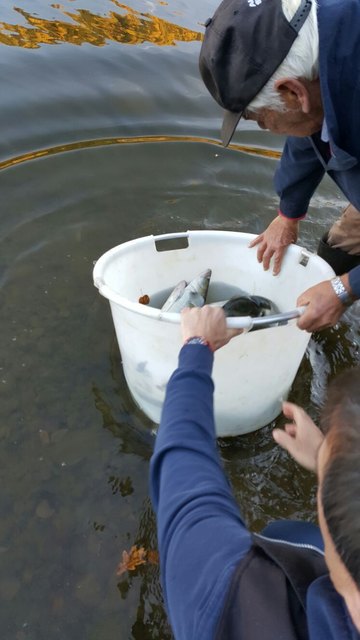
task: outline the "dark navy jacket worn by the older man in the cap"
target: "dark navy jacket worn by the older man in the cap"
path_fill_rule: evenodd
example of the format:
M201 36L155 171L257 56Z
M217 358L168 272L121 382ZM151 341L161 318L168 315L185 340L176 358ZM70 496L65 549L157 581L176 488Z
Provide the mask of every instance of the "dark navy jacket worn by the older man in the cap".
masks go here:
M360 2L318 0L319 78L328 145L319 132L287 138L275 187L280 211L300 219L324 173L360 210ZM350 272L350 286L360 297L360 267Z

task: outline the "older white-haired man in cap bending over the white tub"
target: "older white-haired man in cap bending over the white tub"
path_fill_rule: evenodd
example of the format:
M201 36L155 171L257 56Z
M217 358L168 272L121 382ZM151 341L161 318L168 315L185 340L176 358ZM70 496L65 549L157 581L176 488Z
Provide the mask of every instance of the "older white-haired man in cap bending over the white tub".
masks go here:
M200 71L226 110L224 145L241 117L288 136L278 216L251 245L264 269L279 273L325 173L349 201L318 248L337 277L297 302L301 329L331 326L360 298L360 2L224 0L205 24Z

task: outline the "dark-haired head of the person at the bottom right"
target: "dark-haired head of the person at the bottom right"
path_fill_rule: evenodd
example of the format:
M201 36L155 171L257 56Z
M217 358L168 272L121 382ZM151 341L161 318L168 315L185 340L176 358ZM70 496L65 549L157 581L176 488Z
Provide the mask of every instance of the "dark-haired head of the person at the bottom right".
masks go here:
M360 631L360 367L328 387L318 455L318 513L325 560Z

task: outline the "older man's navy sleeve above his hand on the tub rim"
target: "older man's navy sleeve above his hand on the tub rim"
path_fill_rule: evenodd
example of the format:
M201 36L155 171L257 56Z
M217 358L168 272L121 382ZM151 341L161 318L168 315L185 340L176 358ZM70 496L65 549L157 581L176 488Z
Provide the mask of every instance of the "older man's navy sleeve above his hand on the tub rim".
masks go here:
M280 213L293 220L303 218L324 173L310 138L287 138L274 179Z

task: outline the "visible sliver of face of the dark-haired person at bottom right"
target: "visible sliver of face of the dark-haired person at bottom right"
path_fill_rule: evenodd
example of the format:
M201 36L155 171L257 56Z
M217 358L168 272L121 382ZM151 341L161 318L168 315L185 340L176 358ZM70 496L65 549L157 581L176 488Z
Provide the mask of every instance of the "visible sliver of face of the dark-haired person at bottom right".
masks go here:
M331 581L336 591L344 598L352 621L360 631L360 593L357 586L342 562L339 554L335 549L335 545L331 538L329 529L326 524L324 511L321 504L321 485L324 477L326 464L329 458L329 448L326 438L323 441L318 453L318 517L321 534L325 545L325 561L329 569Z

